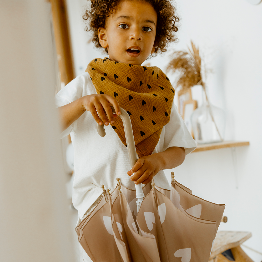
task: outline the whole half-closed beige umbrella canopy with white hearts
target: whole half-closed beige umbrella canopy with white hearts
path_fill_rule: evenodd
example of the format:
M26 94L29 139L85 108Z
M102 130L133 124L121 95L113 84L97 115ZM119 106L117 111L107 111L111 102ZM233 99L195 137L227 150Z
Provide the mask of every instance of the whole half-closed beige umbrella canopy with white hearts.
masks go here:
M128 149L136 161L135 146ZM118 179L115 190L108 196L104 191L95 209L76 227L80 244L94 262L209 260L225 205L194 196L173 177L171 190L152 186L143 187L146 196L141 204L143 191L125 188Z

